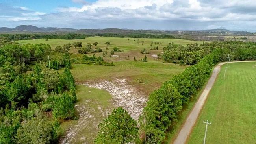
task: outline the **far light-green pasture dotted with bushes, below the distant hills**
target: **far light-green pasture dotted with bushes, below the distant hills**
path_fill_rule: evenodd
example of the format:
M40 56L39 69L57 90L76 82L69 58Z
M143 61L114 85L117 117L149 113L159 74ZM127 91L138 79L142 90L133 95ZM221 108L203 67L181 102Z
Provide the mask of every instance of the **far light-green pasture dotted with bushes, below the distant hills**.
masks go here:
M94 42L98 42L98 45L96 47L100 47L103 51L107 51L108 55L104 60L106 61L118 61L120 59L117 59L118 57L112 57L110 58L110 51L113 50L115 46L117 46L119 49L124 50L124 52L115 52L114 55L119 57L130 57L130 59L133 59L134 56L136 56L137 60L141 59L145 56L145 54L140 54L140 51L145 48L146 50L150 51L150 54L146 54L148 59L155 59L156 57L152 57L152 54L162 54L163 47L167 46L168 43L174 42L174 44L182 44L186 45L188 43L198 43L202 44L203 41L189 41L184 39L140 39L139 43L137 43L137 39L129 38L130 40L127 40L128 38L119 38L119 37L88 37L86 39L77 39L77 40L64 40L64 39L48 39L48 41L45 41L45 39L33 39L33 40L21 40L16 41L21 44L36 44L36 43L45 43L50 44L52 47L52 50L55 49L56 46L63 46L63 44L67 43L73 43L75 41L82 42L82 46L85 47L87 43L93 44ZM135 40L135 41L134 41ZM110 46L106 46L105 42L109 41ZM141 41L144 41L143 45ZM158 46L159 50L149 50L151 48L150 44L153 42L152 48ZM154 44L154 42L160 42L161 44ZM108 47L108 50L106 50L106 47ZM93 46L95 48L95 46ZM70 53L78 53L78 49L76 48L70 48ZM96 56L102 56L103 52L95 53ZM88 54L92 55L92 54ZM77 55L76 55L77 56Z

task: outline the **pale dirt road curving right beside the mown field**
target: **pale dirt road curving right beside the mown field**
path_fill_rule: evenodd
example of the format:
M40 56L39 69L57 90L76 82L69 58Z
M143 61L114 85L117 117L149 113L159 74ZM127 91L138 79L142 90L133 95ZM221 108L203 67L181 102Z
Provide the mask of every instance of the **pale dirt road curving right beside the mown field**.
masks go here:
M232 61L229 63L241 63L241 62L256 62L256 61ZM187 117L186 122L184 123L182 129L178 133L173 144L185 144L186 143L187 138L189 137L189 133L193 129L193 126L195 125L195 122L197 121L197 117L200 114L200 111L201 111L201 109L204 105L204 102L211 90L211 87L213 86L214 81L217 78L217 75L219 74L221 65L223 65L225 63L227 63L227 62L219 63L217 66L215 66L213 73L211 75L211 78L209 79L204 91L200 95L197 103L194 105L192 111L190 112L189 116Z

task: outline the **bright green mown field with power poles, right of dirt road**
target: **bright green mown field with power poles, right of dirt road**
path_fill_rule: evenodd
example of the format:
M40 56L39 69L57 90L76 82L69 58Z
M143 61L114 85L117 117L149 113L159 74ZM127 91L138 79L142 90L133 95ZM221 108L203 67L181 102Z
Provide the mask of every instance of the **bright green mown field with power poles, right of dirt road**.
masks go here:
M256 63L230 63L212 87L200 117L189 137L189 144L201 144L208 126L208 144L255 144L256 142Z

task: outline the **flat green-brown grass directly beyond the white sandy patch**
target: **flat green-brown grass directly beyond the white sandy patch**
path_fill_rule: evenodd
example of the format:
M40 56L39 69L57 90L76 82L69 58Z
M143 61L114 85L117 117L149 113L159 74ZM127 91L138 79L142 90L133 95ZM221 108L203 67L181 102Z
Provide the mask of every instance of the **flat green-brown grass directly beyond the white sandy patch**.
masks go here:
M172 63L163 63L162 61L117 61L116 66L95 66L73 64L71 72L78 83L111 80L128 79L132 85L138 87L146 94L160 87L160 85L170 79L172 76L183 72L187 66L175 65ZM139 79L143 83L139 83Z

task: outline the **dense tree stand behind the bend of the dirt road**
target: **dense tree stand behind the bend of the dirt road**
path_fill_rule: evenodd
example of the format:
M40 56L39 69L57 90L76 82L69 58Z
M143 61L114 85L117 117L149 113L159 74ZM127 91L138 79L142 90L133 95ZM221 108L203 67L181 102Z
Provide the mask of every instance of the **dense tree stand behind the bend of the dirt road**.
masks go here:
M222 60L226 59L227 54L232 55L232 60L256 59L256 44L241 41L204 42L201 45L195 43L187 44L187 46L169 43L168 46L163 48L163 59L181 65L195 65L216 48L223 50Z

